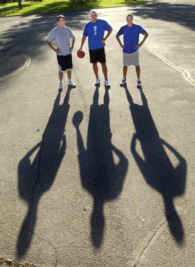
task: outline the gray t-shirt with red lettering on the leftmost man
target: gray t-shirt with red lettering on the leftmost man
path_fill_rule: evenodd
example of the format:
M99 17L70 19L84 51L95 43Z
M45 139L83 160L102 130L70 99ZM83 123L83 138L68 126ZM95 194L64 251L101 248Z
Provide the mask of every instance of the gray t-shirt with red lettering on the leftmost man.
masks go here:
M61 49L61 52L57 53L58 56L67 56L72 53L72 51L70 51L70 39L74 40L75 35L71 29L66 26L64 26L63 29L57 26L47 36L47 41L49 43L55 41L57 48Z

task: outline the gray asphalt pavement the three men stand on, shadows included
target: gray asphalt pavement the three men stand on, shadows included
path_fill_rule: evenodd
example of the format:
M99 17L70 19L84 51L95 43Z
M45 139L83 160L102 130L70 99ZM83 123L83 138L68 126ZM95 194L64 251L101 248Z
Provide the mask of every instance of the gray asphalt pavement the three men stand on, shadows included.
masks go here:
M115 35L149 37L122 78ZM98 9L111 88L78 59L89 11L67 12L73 81L46 45L58 14L0 18L0 256L37 267L194 267L195 3Z

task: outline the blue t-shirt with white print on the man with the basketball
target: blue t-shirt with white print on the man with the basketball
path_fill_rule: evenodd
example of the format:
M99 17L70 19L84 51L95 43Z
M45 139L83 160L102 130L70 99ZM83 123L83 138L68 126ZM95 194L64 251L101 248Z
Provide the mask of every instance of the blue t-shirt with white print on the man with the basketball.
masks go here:
M105 44L101 44L101 40L104 37L104 31L111 30L112 27L108 22L103 20L97 20L97 22L88 22L85 24L83 36L88 36L89 50L100 49Z

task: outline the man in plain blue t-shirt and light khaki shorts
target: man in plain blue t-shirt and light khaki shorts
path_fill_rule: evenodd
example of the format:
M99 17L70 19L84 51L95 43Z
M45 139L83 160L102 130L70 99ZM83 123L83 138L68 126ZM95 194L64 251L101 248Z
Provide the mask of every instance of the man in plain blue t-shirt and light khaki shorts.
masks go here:
M123 48L123 79L120 82L120 85L123 86L126 84L127 67L134 65L136 66L137 73L137 87L141 87L138 49L147 39L148 33L140 25L133 23L132 14L127 15L126 21L127 24L122 26L116 35L120 47ZM144 38L139 44L140 33L144 35ZM123 35L124 45L122 45L120 41L120 35Z

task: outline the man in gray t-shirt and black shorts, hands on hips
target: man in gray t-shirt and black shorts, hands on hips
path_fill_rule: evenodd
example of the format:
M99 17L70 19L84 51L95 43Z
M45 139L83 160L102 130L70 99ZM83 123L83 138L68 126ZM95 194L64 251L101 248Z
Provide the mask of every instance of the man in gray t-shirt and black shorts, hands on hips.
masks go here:
M67 72L68 85L76 87L71 81L72 76L72 50L75 43L75 35L69 27L65 26L65 17L58 16L58 26L55 27L47 36L47 44L57 53L59 65L59 89L63 88L62 79L63 73ZM55 42L56 47L52 44Z

